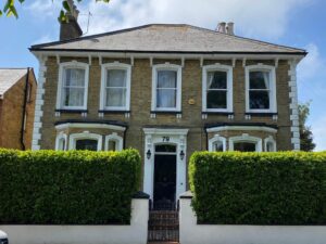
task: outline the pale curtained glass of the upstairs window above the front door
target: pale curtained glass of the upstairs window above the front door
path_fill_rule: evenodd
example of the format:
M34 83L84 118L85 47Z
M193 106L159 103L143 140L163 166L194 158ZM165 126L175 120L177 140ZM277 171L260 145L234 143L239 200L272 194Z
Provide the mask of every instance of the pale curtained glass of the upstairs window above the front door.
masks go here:
M177 73L159 70L156 85L156 107L176 107Z

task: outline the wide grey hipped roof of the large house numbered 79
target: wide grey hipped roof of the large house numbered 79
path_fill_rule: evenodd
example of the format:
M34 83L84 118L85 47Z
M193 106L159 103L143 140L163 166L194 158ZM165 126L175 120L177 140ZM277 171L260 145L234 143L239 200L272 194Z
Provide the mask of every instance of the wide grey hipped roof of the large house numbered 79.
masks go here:
M151 24L72 40L36 44L32 51L154 53L281 53L305 50L231 36L185 24Z

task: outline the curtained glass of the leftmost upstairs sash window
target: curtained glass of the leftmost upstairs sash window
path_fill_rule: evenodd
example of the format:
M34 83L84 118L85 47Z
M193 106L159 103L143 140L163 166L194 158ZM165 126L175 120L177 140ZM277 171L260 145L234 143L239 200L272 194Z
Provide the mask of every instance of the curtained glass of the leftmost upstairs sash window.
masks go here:
M63 105L83 106L85 95L85 69L66 68L64 72Z

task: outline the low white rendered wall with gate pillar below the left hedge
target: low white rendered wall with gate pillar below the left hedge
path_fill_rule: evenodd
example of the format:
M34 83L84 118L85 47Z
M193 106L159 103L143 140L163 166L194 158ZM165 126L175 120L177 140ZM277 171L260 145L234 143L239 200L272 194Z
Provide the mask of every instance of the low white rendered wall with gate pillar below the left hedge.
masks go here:
M146 244L148 200L133 200L130 226L0 226L10 244Z

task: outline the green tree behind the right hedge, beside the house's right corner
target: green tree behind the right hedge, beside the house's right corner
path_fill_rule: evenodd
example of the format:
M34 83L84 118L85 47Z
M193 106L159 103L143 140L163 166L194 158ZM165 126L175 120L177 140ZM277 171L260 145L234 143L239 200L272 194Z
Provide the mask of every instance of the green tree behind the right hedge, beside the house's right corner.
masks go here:
M306 119L310 115L310 103L299 104L299 129L300 129L300 149L301 151L311 152L316 144L313 142L313 133L311 127L306 126Z

